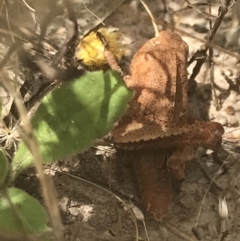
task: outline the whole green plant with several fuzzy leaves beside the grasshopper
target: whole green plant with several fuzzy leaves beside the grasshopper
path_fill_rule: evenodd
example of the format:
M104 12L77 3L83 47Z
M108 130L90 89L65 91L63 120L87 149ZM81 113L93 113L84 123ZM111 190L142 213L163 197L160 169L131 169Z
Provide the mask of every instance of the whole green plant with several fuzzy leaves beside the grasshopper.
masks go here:
M44 163L83 152L106 135L124 114L132 92L116 71L91 72L64 83L46 95L31 120ZM49 231L48 215L24 191L7 187L27 167L33 156L22 141L9 165L0 152L0 235ZM37 218L36 218L37 217Z

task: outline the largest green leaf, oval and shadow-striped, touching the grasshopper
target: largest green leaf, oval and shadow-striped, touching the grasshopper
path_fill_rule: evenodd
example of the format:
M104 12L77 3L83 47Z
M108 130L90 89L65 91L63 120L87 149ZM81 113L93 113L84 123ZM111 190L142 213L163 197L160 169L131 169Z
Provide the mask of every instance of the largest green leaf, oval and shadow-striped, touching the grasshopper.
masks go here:
M116 71L91 72L49 93L32 119L44 163L93 146L124 114L132 95ZM20 143L12 178L31 164L31 154Z

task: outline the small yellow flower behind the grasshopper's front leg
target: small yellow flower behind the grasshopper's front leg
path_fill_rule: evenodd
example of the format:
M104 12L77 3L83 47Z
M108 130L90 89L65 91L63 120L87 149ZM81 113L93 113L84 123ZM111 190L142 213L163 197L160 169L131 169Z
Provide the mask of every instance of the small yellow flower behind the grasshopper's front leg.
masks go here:
M119 42L120 33L117 31L110 31L106 28L98 29L109 44L109 49L119 61L125 54L121 43ZM107 62L105 60L104 45L98 38L96 32L91 32L84 37L77 46L75 57L81 60L83 64L90 68L101 68Z

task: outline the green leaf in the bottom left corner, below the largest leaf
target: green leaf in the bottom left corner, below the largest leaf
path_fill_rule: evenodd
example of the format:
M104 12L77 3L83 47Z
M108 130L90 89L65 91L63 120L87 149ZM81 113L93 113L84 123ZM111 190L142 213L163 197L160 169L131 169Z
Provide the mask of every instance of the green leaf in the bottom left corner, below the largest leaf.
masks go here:
M18 238L23 233L41 234L49 232L47 226L48 215L43 206L26 192L9 188L9 199L14 205L12 209L6 196L0 196L0 235L4 237Z

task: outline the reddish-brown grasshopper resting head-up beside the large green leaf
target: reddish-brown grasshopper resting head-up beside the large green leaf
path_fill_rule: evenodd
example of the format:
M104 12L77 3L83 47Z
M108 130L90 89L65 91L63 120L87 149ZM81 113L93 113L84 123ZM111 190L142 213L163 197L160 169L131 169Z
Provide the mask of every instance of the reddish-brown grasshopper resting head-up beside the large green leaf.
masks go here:
M105 46L110 67L123 73ZM187 58L188 45L174 32L147 41L131 61L130 76L123 75L135 95L111 132L116 149L133 151L142 202L157 220L171 203L170 173L182 179L194 147L216 152L224 133L216 122L189 122Z

